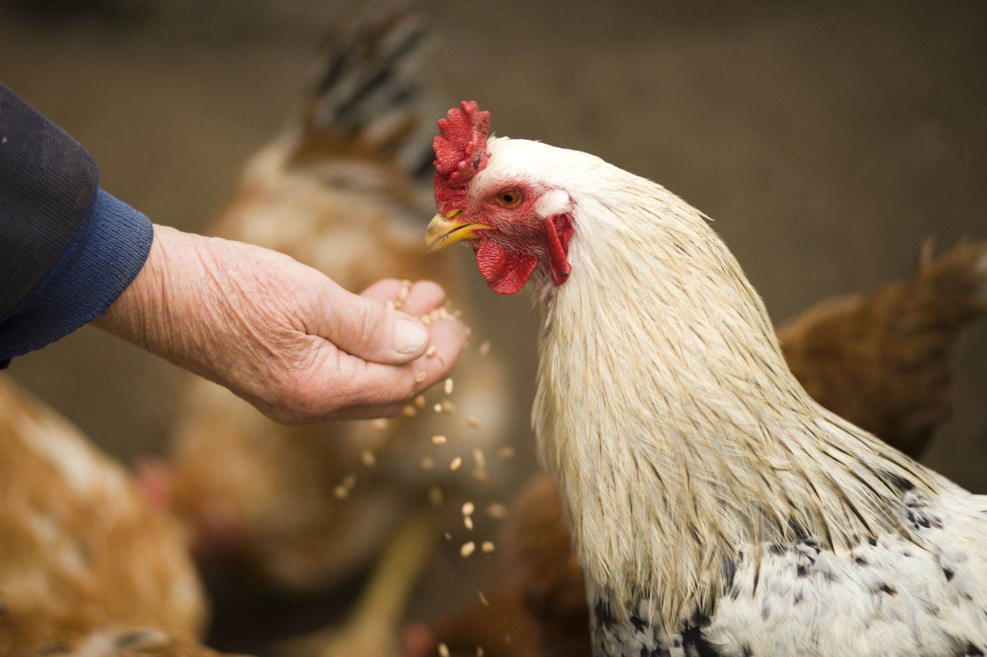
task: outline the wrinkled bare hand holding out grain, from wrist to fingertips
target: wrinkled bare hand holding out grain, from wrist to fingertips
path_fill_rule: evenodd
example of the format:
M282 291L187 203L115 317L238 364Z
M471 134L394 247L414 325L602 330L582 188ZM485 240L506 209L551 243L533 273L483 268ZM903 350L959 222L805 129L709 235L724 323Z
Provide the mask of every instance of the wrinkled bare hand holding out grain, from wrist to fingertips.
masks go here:
M397 414L448 376L466 339L427 327L444 301L419 282L351 294L287 255L156 226L144 268L94 325L219 383L280 422ZM432 344L434 353L425 356Z

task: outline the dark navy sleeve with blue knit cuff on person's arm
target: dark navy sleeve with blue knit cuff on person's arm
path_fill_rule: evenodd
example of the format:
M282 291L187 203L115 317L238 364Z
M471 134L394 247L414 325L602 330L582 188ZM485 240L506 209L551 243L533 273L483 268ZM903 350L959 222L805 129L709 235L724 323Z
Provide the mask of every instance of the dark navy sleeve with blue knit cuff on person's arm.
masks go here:
M0 369L103 314L152 240L89 152L0 85Z

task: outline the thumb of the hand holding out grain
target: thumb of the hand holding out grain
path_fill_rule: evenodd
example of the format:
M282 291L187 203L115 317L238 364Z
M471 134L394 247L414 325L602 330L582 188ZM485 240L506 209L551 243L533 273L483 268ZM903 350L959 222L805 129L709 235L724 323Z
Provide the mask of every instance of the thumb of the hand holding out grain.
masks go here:
M329 294L322 337L348 354L373 363L400 365L428 347L428 328L417 319L337 287Z

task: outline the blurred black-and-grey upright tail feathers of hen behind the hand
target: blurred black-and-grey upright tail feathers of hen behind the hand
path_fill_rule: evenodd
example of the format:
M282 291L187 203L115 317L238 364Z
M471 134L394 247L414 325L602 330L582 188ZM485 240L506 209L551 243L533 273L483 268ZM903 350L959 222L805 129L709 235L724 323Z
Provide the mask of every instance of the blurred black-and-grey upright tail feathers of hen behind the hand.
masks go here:
M387 159L423 173L435 132L426 117L436 104L422 68L429 43L427 27L407 5L344 8L302 107L294 158Z

